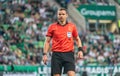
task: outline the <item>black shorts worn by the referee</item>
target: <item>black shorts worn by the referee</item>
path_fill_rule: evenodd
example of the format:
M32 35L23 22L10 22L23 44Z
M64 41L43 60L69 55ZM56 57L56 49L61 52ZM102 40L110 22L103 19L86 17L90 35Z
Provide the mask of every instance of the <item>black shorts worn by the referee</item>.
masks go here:
M75 71L75 58L74 52L53 52L51 60L51 75L61 74L62 67L63 73L68 71Z

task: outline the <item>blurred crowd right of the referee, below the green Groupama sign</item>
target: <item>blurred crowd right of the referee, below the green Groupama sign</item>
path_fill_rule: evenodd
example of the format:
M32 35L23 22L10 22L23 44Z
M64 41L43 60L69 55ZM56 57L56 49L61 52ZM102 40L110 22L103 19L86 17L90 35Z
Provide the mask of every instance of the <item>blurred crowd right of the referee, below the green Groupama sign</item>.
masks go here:
M84 59L77 59L79 66L120 65L120 36L110 32L80 33Z

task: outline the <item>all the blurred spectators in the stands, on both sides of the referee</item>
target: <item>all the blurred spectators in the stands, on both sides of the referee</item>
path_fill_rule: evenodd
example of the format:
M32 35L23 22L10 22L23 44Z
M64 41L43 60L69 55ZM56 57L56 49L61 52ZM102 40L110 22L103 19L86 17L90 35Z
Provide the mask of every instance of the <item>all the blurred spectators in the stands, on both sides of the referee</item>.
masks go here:
M0 64L42 64L45 33L57 20L56 11L57 7L45 0L0 1ZM119 36L90 31L79 35L85 51L84 59L75 55L77 65L120 65Z

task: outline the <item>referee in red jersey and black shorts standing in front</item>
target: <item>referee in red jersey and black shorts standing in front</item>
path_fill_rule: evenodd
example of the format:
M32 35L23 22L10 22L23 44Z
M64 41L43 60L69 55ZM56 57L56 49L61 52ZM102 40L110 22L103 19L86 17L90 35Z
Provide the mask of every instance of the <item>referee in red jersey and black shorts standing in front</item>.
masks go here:
M62 68L68 76L75 76L74 40L78 46L78 57L83 58L81 40L76 26L67 21L67 11L60 8L58 21L52 23L47 31L43 51L43 62L46 64L47 52L52 41L51 76L61 76Z

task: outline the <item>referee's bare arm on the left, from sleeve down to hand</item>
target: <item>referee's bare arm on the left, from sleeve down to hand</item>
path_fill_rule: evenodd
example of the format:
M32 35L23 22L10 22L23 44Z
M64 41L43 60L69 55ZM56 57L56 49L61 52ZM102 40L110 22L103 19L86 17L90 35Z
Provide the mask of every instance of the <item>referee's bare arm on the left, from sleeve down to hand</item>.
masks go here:
M45 43L44 43L44 49L43 49L43 62L44 62L44 64L46 64L46 62L48 60L47 52L48 52L49 47L50 47L50 41L51 41L51 37L46 37Z

